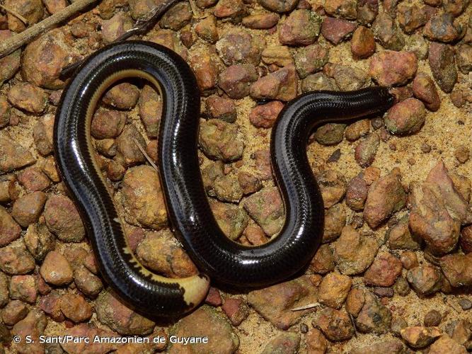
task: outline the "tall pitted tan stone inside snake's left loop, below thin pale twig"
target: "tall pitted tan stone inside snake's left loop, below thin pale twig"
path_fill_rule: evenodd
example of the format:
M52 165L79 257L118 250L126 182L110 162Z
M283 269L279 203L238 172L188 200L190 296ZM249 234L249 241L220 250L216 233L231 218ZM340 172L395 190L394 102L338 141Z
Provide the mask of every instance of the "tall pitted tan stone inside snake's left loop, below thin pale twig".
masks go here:
M167 223L166 205L156 170L151 166L128 169L122 182L123 204L129 216L145 227L159 230ZM125 219L129 219L126 216ZM132 219L129 219L132 222Z

